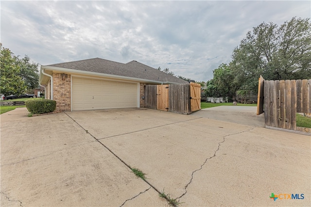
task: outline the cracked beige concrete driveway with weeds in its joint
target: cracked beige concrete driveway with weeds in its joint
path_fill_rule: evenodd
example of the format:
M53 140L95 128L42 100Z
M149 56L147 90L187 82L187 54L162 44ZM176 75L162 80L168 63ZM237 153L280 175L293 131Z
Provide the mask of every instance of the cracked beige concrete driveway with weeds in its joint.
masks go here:
M163 190L182 206L311 206L310 136L150 109L0 118L1 206L168 206Z

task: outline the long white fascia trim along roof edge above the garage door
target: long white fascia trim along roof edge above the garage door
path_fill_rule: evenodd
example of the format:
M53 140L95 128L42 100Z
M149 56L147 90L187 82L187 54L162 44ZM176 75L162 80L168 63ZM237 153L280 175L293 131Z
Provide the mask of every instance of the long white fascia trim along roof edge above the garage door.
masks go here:
M97 72L90 72L90 71L84 71L84 70L75 70L75 69L69 69L69 68L62 68L62 67L53 67L48 65L41 65L41 68L47 69L47 70L56 70L56 71L62 71L67 73L78 73L78 74L85 74L85 75L93 75L93 76L101 76L101 77L108 77L108 78L115 78L115 79L124 79L124 80L136 80L139 82L146 82L146 83L157 83L157 84L180 84L177 82L169 82L169 81L156 81L156 80L147 80L147 79L138 79L138 78L131 78L126 76L117 76L117 75L111 75L111 74L105 74L105 73L97 73ZM44 74L45 75L45 74Z

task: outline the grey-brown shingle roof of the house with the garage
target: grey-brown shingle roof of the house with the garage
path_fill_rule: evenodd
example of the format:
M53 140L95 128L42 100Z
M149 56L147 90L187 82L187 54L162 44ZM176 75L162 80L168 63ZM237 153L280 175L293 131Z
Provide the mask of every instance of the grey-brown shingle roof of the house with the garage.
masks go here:
M127 64L122 64L114 61L104 60L101 58L93 58L67 63L50 64L46 66L68 68L80 71L88 71L143 80L155 80L161 82L182 84L188 83L186 80L179 79L148 65L138 63L137 61L131 61Z

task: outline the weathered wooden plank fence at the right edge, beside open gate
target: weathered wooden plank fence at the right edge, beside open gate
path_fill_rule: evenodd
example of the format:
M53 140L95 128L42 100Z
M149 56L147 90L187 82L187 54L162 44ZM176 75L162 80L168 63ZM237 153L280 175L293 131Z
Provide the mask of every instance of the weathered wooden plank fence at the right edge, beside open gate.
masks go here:
M297 113L311 123L311 80L264 80L265 125L311 133L311 128L296 126Z

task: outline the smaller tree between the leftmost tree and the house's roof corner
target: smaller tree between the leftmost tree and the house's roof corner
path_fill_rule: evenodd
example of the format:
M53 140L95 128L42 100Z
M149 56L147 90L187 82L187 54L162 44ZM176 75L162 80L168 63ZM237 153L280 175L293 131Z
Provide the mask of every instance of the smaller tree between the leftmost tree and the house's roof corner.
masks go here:
M30 62L30 58L25 55L24 58L18 59L20 66L19 76L25 81L27 89L35 89L39 85L38 64Z

